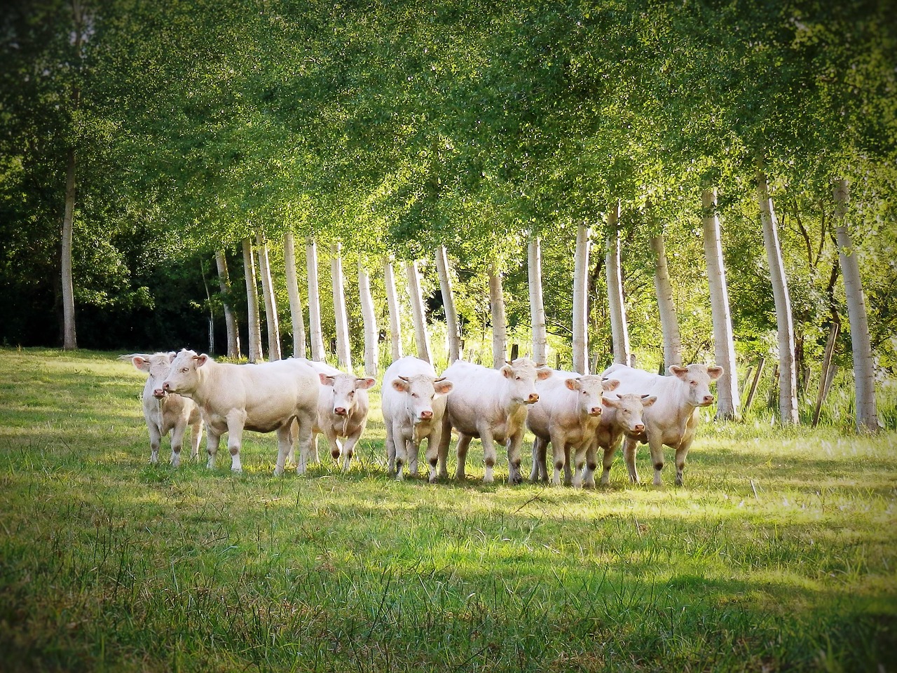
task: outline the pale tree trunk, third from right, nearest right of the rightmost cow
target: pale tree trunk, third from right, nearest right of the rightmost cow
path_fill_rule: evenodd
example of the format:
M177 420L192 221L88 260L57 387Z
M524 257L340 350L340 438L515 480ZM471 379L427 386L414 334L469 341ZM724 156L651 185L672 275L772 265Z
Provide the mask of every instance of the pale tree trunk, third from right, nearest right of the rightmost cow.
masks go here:
M738 371L735 359L735 336L729 310L726 268L717 215L717 190L705 189L701 194L704 223L704 258L710 284L710 311L713 319L713 353L723 368L717 380L717 419L736 420L741 396L738 394Z

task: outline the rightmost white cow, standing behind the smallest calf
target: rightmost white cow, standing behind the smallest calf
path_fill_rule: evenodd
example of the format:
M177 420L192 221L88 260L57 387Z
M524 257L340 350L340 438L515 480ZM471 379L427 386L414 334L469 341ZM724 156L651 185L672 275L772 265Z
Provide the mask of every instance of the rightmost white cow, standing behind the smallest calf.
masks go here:
M639 473L635 469L635 450L636 442L640 441L647 443L651 451L654 485L661 484L665 444L675 449L675 483L682 485L685 457L698 427L698 408L713 404L710 382L717 380L722 373L722 367L708 367L706 364L672 366L670 376L659 376L624 364L613 364L605 370L605 376L620 380L618 393L647 394L658 398L642 414L645 432L628 436L623 443L623 458L633 482L639 481Z

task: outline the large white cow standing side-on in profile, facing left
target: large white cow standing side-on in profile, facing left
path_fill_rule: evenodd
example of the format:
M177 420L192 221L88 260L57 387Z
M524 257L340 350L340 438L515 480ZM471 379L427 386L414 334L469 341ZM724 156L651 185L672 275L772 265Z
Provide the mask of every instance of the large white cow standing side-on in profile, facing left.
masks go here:
M283 465L292 448L290 430L299 424L300 458L296 474L304 474L311 450L311 430L318 416L318 372L299 360L261 364L216 363L206 354L181 351L162 389L192 398L203 414L208 433L208 467L214 468L218 443L228 433L231 470L243 469L239 449L243 431L277 433L277 464Z

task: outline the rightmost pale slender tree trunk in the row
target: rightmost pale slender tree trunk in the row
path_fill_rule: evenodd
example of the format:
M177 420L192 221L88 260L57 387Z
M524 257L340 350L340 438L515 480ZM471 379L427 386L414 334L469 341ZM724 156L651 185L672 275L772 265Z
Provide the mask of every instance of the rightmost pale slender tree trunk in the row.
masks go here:
M835 236L838 258L844 276L847 312L850 321L850 345L853 351L853 379L857 391L857 430L877 433L878 409L875 405L875 367L872 360L872 340L866 298L859 277L857 251L853 247L847 223L849 186L845 179L835 183Z

